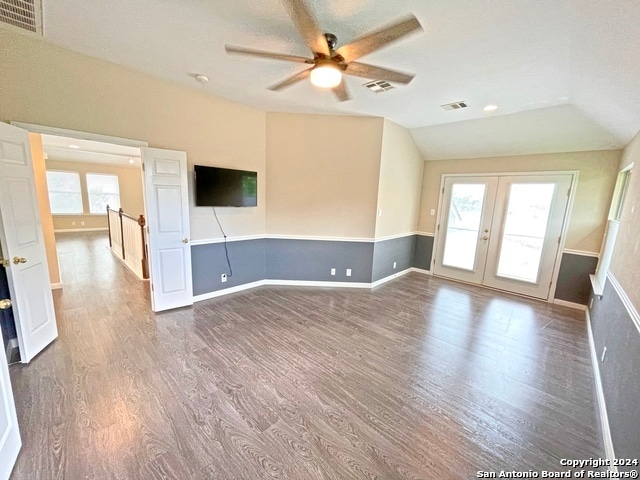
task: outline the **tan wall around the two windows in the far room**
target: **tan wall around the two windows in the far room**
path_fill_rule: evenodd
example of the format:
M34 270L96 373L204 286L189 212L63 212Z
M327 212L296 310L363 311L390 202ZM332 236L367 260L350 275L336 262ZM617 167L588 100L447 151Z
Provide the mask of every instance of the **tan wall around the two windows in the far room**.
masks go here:
M75 161L47 160L47 170L63 170L80 174L82 204L84 215L54 215L53 224L56 230L107 228L107 215L89 213L89 196L87 194L87 173L108 173L118 176L120 185L120 205L125 213L138 217L144 214L142 198L142 170L138 167L123 167L99 163L82 163ZM84 225L82 225L84 222Z

